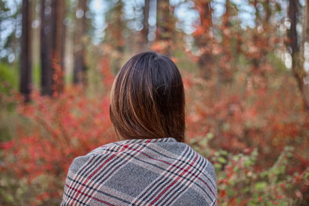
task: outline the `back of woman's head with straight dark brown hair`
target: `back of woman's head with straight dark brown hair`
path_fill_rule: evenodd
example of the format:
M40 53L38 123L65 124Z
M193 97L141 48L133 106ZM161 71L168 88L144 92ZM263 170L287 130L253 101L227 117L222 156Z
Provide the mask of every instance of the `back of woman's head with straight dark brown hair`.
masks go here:
M184 141L185 94L174 62L155 52L130 58L113 83L110 115L119 139Z

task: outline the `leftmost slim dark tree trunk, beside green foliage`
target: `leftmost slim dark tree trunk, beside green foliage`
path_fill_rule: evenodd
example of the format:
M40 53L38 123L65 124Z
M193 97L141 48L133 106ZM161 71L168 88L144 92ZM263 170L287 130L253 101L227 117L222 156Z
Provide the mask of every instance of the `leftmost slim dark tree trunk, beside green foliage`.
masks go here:
M21 36L21 84L20 91L24 100L30 100L32 87L32 41L31 41L31 1L23 0Z

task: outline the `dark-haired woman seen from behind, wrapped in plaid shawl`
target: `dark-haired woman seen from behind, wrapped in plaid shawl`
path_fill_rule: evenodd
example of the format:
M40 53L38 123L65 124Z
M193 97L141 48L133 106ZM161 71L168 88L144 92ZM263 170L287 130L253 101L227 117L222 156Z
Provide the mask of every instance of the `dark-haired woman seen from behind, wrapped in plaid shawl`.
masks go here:
M216 205L213 166L183 143L185 94L170 58L144 52L128 60L110 115L122 141L74 159L62 205Z

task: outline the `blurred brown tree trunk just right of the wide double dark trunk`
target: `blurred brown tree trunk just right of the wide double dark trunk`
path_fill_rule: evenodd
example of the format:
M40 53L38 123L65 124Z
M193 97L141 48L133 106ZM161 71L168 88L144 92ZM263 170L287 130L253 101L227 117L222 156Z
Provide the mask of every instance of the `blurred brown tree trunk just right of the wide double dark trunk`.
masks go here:
M82 38L87 31L87 0L79 0L76 11L76 33L74 46L74 84L86 82L86 64L84 62L84 41Z

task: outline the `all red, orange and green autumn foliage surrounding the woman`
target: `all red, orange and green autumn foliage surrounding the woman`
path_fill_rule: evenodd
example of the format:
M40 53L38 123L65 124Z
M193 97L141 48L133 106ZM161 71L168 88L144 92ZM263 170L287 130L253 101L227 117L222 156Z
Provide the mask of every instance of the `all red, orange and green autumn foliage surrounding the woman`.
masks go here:
M192 1L199 21L188 49L186 34L175 29L175 8L158 2L159 29L149 45L170 55L181 70L186 142L213 163L218 205L308 205L306 85L301 90L295 80L304 68L301 58L293 71L284 62L296 54L288 52L293 40L286 35L286 20L272 19L281 5L248 1L256 25L244 29L231 1L219 19L212 19L210 1ZM73 159L116 141L109 118L111 84L122 61L138 51L132 36L139 38L137 31L122 35L128 32L117 15L123 7L118 1L108 13L107 41L88 49L87 85L65 85L52 97L34 91L25 103L0 76L0 106L8 111L0 120L12 136L0 139L0 205L59 205Z

